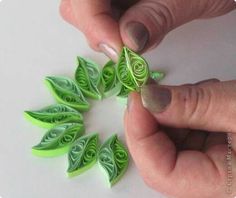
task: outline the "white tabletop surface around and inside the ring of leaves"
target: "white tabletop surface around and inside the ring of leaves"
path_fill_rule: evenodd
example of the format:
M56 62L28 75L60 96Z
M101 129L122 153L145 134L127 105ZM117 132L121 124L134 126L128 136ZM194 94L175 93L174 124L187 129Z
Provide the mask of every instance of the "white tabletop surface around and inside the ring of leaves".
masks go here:
M58 4L55 0L0 2L0 197L161 197L145 186L133 163L124 179L109 189L96 166L71 180L65 174L66 156L31 155L31 146L45 130L24 121L22 112L53 103L43 78L72 76L78 54L100 64L106 61L89 49L81 33L61 20ZM235 79L236 12L187 24L145 57L153 68L168 72L163 81L167 84ZM112 132L124 138L122 113L113 99L95 104L86 116L87 128L101 132L102 140Z

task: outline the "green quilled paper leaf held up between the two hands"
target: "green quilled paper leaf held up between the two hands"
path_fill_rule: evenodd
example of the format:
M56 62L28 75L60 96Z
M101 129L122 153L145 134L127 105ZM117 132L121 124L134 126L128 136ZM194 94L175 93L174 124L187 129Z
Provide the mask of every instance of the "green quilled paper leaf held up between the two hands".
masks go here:
M117 64L120 82L132 91L139 91L149 78L147 62L127 47L123 47Z

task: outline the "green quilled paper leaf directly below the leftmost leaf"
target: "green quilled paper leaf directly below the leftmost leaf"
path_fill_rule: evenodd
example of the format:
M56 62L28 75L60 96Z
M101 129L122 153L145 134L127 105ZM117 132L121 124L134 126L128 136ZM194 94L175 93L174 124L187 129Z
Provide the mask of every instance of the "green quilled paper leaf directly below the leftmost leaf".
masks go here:
M50 129L41 142L32 148L32 153L42 157L53 157L68 152L73 142L84 133L84 125L66 123Z

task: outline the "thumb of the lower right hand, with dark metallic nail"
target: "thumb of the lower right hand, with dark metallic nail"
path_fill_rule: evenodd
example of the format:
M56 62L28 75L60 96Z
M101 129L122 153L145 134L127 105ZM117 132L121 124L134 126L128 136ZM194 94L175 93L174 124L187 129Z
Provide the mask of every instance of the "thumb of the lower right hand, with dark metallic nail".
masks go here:
M142 102L159 123L177 128L236 132L236 81L159 86L141 90Z

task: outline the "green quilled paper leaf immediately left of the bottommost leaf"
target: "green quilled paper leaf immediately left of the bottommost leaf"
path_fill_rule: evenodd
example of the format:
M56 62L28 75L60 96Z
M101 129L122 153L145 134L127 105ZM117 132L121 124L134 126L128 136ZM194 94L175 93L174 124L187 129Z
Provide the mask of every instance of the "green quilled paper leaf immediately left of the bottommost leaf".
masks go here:
M68 154L68 176L73 177L91 168L97 161L98 134L80 137Z

